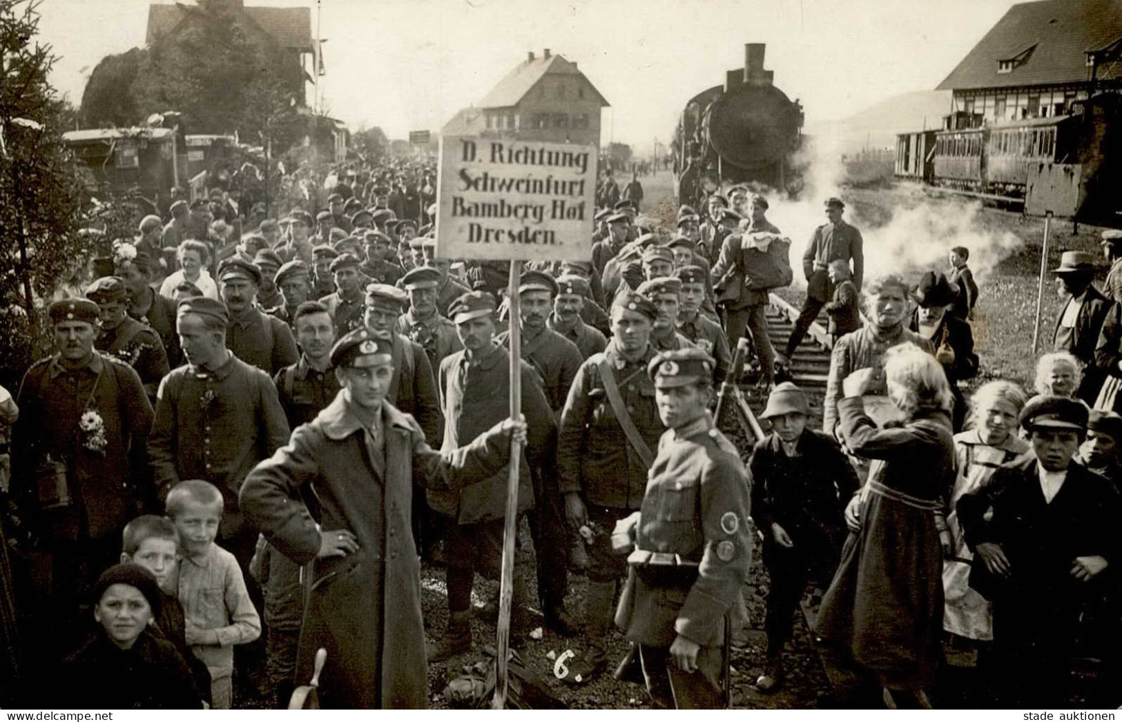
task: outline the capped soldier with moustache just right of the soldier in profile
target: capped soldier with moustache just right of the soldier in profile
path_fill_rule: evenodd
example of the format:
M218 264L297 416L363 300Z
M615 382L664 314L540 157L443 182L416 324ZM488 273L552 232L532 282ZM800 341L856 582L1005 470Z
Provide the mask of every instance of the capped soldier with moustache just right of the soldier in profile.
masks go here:
M288 325L254 305L261 271L232 256L219 266L218 283L230 314L227 348L246 363L268 374L296 363L300 353Z

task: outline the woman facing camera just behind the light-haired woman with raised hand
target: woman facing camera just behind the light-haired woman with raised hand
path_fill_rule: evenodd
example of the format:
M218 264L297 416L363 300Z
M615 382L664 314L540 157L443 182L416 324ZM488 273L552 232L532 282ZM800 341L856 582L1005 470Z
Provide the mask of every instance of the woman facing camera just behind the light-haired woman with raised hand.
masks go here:
M834 344L830 357L830 372L826 381L826 401L822 409L822 431L836 436L838 423L838 400L842 399L842 382L850 373L861 369L872 369L870 396L885 396L884 352L890 348L911 342L929 353L935 346L921 339L905 325L910 317L911 289L896 274L870 279L862 289L862 306L868 323L847 333ZM868 409L872 410L872 409Z

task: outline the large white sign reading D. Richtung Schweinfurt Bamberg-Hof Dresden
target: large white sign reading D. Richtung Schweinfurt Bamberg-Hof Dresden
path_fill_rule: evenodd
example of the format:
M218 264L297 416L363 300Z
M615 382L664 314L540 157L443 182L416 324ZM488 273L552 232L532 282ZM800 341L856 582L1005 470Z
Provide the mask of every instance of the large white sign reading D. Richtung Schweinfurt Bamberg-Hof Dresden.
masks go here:
M436 256L589 260L595 146L441 137Z

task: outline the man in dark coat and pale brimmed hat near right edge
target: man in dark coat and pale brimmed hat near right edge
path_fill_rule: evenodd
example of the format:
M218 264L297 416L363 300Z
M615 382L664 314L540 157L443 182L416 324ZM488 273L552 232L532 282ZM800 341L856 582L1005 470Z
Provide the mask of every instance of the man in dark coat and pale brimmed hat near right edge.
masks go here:
M1113 304L1092 283L1095 259L1091 253L1065 251L1052 272L1056 294L1065 299L1052 333L1052 351L1066 351L1083 362L1076 396L1094 404L1106 378L1106 371L1095 365L1095 345Z

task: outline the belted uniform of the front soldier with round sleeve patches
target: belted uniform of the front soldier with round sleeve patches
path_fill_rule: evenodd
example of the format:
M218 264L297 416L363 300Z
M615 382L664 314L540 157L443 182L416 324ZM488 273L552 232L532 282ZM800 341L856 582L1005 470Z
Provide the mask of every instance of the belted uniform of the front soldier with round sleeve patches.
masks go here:
M641 645L649 689L666 706L720 704L720 648L732 631L725 620L739 624L746 619L741 590L752 562L748 485L736 447L711 428L708 415L663 434L643 497L636 548L677 555L696 563L697 571L684 566L654 576L651 567L633 566L616 624ZM697 673L683 673L670 659L678 636L700 645ZM654 660L661 664L649 664Z

